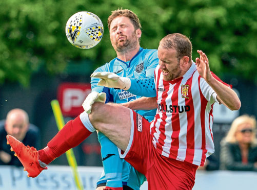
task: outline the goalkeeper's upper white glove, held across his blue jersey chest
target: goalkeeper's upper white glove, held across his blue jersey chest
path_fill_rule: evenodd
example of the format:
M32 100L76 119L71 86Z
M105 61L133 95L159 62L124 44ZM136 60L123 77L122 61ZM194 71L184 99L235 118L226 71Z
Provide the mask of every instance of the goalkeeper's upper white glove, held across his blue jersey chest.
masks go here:
M127 77L120 77L114 73L109 72L96 72L91 75L91 77L100 78L98 82L99 86L106 86L109 88L120 88L123 90L128 90L131 86L131 81Z

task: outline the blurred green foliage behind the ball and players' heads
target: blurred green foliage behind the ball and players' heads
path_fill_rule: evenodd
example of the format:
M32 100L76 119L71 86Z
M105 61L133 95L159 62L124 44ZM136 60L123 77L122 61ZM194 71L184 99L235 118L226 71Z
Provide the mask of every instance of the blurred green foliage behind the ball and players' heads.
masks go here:
M140 17L142 47L157 49L165 35L183 33L192 41L193 60L196 50L203 50L216 74L230 72L257 82L254 0L9 0L0 2L0 83L28 85L33 73L60 74L68 62L76 66L76 62L91 60L94 69L110 61L116 54L107 18L121 7ZM77 49L66 39L66 21L78 11L93 12L104 23L102 41L90 50Z

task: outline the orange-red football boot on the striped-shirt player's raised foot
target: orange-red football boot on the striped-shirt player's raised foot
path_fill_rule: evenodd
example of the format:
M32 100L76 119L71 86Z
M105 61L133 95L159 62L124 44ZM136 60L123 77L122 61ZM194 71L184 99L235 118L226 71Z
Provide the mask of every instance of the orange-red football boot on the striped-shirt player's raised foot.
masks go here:
M36 177L42 170L47 167L41 167L38 161L38 152L34 147L25 146L19 140L11 135L7 135L7 144L11 146L11 151L15 152L15 156L22 162L24 170L28 172L29 177Z

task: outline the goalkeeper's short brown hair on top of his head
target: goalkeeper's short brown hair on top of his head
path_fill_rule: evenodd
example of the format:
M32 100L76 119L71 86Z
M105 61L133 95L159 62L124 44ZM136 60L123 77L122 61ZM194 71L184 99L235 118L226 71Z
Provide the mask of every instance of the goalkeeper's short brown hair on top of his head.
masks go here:
M126 17L128 17L131 20L135 30L136 29L141 29L141 24L140 24L139 17L137 17L137 15L135 13L133 13L129 9L117 9L115 11L112 11L111 15L108 17L108 29L109 30L110 30L110 25L111 25L112 20L114 18L116 18L117 16L126 16Z

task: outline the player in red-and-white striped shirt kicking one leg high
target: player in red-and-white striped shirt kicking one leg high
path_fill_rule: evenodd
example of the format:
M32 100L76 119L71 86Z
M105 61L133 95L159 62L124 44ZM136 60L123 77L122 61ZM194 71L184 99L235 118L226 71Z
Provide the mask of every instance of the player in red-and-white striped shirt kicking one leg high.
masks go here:
M120 148L121 157L146 175L148 189L192 189L197 167L214 151L213 104L222 103L231 110L241 106L236 93L211 74L207 56L197 52L200 58L196 58L195 65L190 40L182 34L167 35L158 49L155 98L141 98L121 106L103 104L105 93L92 92L83 104L86 111L68 122L46 148L35 151L10 135L8 143L34 177L46 169L44 163L99 130ZM98 77L107 87L141 86L139 81L111 73ZM149 123L125 106L134 110L157 107L157 112Z

